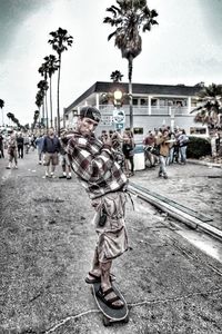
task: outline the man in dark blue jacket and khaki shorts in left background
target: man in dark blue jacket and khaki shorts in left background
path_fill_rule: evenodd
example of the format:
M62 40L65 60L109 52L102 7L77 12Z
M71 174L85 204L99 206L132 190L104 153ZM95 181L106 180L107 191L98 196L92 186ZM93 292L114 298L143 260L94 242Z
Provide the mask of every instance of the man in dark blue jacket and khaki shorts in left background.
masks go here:
M44 155L44 166L46 166L46 174L43 178L52 177L54 178L54 170L57 165L59 164L59 151L61 149L61 144L59 138L54 135L54 129L50 128L48 130L48 135L44 136L42 143L42 153ZM51 169L50 169L51 166Z

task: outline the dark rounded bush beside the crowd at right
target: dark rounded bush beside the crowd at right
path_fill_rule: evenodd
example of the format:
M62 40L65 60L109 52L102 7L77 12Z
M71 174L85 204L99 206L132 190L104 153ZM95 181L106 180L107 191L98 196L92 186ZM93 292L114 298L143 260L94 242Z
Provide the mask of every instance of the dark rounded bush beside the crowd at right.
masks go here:
M189 137L188 144L188 158L199 159L204 156L211 155L211 144L208 139L199 137Z

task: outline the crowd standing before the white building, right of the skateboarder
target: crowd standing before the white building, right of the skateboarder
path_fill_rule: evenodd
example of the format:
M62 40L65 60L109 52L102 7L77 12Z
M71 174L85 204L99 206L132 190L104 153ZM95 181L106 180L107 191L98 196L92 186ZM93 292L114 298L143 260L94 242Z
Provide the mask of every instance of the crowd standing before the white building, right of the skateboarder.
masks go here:
M123 156L122 167L127 177L134 175L134 154L135 143L130 129L123 134L120 131L103 130L100 139L112 139L112 146ZM171 131L170 127L163 127L149 130L143 139L145 167L152 168L159 166L159 177L168 178L167 166L173 163L185 165L186 148L189 137L184 129L175 128Z

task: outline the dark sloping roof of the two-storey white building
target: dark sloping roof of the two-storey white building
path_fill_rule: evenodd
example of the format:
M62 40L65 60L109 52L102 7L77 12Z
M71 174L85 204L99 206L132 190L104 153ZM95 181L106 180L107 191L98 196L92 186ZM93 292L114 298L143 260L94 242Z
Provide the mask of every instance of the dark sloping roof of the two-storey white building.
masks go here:
M65 111L78 106L81 101L95 92L112 92L120 88L123 92L128 92L128 82L107 82L97 81L80 97L78 97ZM163 96L195 96L200 91L200 86L185 86L185 85L152 85L152 84L132 84L133 95L163 95Z

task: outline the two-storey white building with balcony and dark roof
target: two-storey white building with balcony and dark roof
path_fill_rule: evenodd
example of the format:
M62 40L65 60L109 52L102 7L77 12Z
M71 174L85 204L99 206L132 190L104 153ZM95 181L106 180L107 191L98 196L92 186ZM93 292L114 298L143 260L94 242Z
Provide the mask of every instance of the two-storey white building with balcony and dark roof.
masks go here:
M114 129L113 92L121 90L123 100L119 107L125 114L125 122L120 128L130 126L130 108L127 82L97 81L69 107L64 108L63 124L65 128L73 128L79 110L82 106L95 106L102 115L99 131ZM184 128L188 135L206 135L206 127L194 122L194 115L190 114L196 107L196 94L200 86L184 85L132 85L133 131L138 140L142 139L148 130L170 126Z

